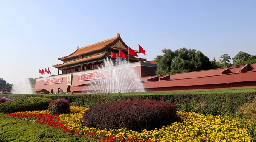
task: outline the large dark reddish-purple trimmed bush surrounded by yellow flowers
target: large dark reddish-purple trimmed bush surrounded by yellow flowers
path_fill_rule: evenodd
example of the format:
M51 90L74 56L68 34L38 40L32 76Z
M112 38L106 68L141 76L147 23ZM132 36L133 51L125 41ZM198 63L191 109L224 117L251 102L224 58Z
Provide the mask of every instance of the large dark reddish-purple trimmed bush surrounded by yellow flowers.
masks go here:
M84 112L87 127L142 131L170 125L177 120L172 103L155 100L120 100L94 106Z

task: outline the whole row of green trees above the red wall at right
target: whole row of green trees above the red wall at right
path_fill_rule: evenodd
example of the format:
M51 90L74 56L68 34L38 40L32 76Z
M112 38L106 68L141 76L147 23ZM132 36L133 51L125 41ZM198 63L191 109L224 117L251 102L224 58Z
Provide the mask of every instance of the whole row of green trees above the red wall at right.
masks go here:
M198 70L216 69L221 67L232 67L244 64L256 63L256 55L239 51L231 64L228 54L223 54L220 59L212 61L199 50L180 48L175 51L164 48L163 55L157 55L157 75L173 74L181 72L192 72Z

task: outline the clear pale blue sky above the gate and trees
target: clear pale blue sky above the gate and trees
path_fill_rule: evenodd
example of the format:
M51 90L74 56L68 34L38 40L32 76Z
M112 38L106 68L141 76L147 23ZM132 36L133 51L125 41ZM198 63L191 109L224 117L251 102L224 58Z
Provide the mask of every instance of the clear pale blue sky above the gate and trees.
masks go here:
M212 60L256 55L256 0L1 0L0 78L52 75L58 58L120 33L148 61L163 48L202 51Z

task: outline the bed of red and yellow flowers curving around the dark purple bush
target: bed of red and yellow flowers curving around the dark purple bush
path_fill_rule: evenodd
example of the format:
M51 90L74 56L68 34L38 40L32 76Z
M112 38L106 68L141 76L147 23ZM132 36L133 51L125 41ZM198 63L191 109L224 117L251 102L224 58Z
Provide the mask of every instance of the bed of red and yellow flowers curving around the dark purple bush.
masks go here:
M180 122L151 131L137 131L122 129L99 130L98 128L83 127L82 115L88 108L70 107L68 114L50 114L49 111L26 111L6 114L34 120L43 125L57 129L99 139L106 142L184 142L205 141L214 142L230 140L233 142L250 142L248 131L233 117L201 115L178 111Z

